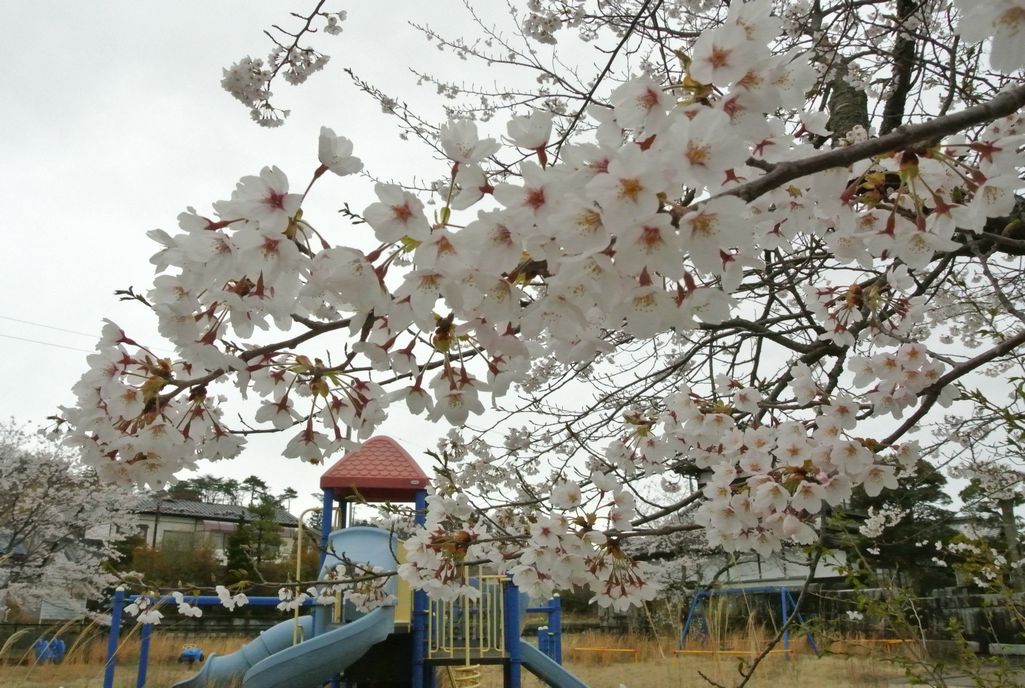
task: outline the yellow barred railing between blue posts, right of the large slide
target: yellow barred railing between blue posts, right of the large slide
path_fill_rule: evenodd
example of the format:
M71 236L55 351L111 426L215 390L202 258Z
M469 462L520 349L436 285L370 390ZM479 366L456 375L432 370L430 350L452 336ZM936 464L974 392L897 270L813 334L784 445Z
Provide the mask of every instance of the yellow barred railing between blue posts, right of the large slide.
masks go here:
M432 600L427 615L427 658L465 659L504 656L505 606L502 602L504 576L485 575L481 567L463 569L463 582L480 595L462 595L456 600Z

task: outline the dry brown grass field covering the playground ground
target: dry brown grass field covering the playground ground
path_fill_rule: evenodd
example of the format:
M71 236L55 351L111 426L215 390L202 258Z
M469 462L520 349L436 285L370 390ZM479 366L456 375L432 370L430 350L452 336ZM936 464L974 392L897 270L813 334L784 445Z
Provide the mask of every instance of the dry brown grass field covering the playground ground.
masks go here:
M182 639L169 634L161 634L159 629L151 643L150 667L147 686L166 688L175 681L192 676L198 671L176 663L181 650ZM225 654L237 650L245 642L242 638L211 638L199 644L204 652ZM691 649L702 653L673 654L674 639L660 641L650 639L624 638L582 634L564 639L564 659L569 671L576 674L590 688L692 688L710 686L702 674L723 686L734 686L740 676L738 663L749 654L730 652L752 652L752 641L744 639L729 645L723 651L716 648L693 646ZM576 648L615 648L636 652L596 652ZM846 655L831 654L816 657L802 640L794 643L794 653L770 655L758 667L749 686L754 688L848 688L853 686L884 687L903 684L902 672L893 662L883 661L899 652L892 646L860 647L856 641L849 646ZM883 649L880 649L883 648ZM837 647L832 648L834 651ZM68 659L57 665L35 665L34 655L12 657L10 652L0 664L0 686L3 688L98 688L102 685L104 657L106 644L102 639L86 641L70 648ZM707 652L707 654L703 653ZM868 656L868 654L871 656ZM117 688L134 688L138 661L138 640L129 638L119 651L115 685ZM440 684L452 686L449 672L439 670ZM524 672L523 688L541 688L539 680ZM482 688L501 688L501 672L498 666L482 670Z

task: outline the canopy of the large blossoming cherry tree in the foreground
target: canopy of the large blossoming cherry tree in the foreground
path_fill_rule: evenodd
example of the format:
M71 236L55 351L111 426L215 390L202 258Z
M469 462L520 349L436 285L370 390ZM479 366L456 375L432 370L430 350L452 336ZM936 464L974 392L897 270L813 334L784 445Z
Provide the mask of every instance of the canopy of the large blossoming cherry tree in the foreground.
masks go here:
M327 64L304 43L337 33L324 5L224 71L260 123L284 121L276 79ZM418 75L443 118L350 72L438 181L367 170L375 202L315 216L368 145L324 127L300 181L265 167L151 232L159 274L123 295L176 353L108 323L64 414L105 480L163 487L270 430L325 461L402 405L452 427L402 575L451 595L483 560L625 607L655 595L631 556L653 537L814 545L824 511L949 456L966 418L1001 432L972 391L1002 399L1025 345L1021 0L474 16L479 36L422 31L515 76ZM233 421L229 394L259 407Z

